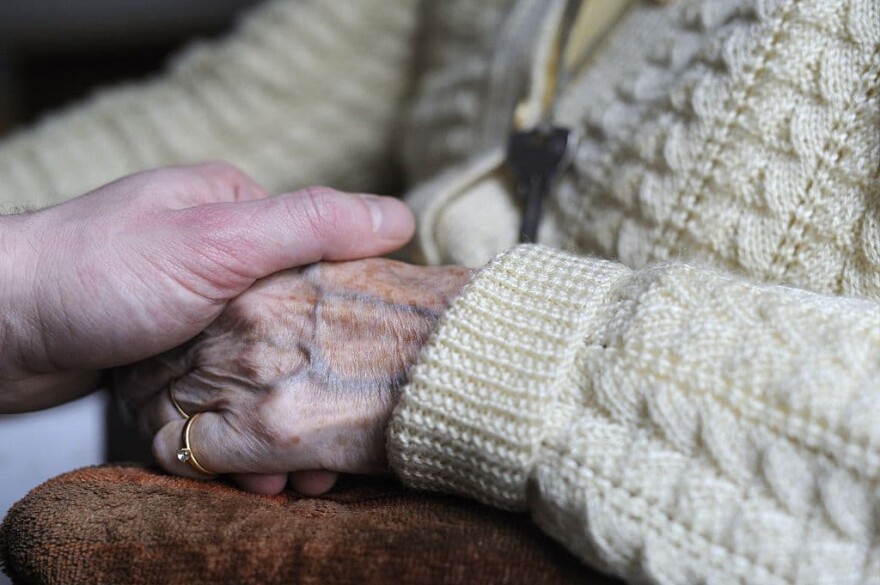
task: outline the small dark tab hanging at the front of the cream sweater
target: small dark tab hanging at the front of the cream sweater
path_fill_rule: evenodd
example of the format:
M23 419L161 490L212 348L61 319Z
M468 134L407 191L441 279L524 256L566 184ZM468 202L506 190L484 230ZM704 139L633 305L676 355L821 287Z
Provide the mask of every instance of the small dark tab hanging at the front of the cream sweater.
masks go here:
M520 242L537 241L544 199L571 163L578 140L575 131L562 126L539 126L511 135L507 166L516 181L516 198L524 207Z

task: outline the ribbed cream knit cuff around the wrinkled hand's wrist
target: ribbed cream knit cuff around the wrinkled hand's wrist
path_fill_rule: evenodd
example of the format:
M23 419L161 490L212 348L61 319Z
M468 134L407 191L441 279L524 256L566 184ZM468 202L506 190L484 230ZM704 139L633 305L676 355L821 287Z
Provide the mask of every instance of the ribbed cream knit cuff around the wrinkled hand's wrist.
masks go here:
M415 488L523 510L559 381L629 269L541 246L496 258L465 287L410 373L388 457Z

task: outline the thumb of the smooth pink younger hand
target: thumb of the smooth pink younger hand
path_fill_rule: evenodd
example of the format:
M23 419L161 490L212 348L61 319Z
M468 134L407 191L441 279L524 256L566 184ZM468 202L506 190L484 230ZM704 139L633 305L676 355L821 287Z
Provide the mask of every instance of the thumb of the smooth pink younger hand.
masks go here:
M174 213L199 258L252 281L320 260L386 254L409 241L415 227L412 212L397 199L324 187Z

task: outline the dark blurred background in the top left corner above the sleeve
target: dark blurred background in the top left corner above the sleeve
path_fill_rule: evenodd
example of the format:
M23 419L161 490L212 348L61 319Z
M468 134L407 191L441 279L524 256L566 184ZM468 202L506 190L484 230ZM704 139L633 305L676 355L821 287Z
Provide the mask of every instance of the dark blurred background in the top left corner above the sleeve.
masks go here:
M0 136L96 87L160 70L258 1L0 0Z

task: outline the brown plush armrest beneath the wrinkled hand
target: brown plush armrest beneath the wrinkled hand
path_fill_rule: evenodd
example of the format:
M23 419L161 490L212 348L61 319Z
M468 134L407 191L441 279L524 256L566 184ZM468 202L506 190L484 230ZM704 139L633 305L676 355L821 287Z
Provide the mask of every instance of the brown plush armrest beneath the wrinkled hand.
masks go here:
M142 467L82 469L0 527L16 583L566 583L592 574L520 515L348 480L254 496Z

